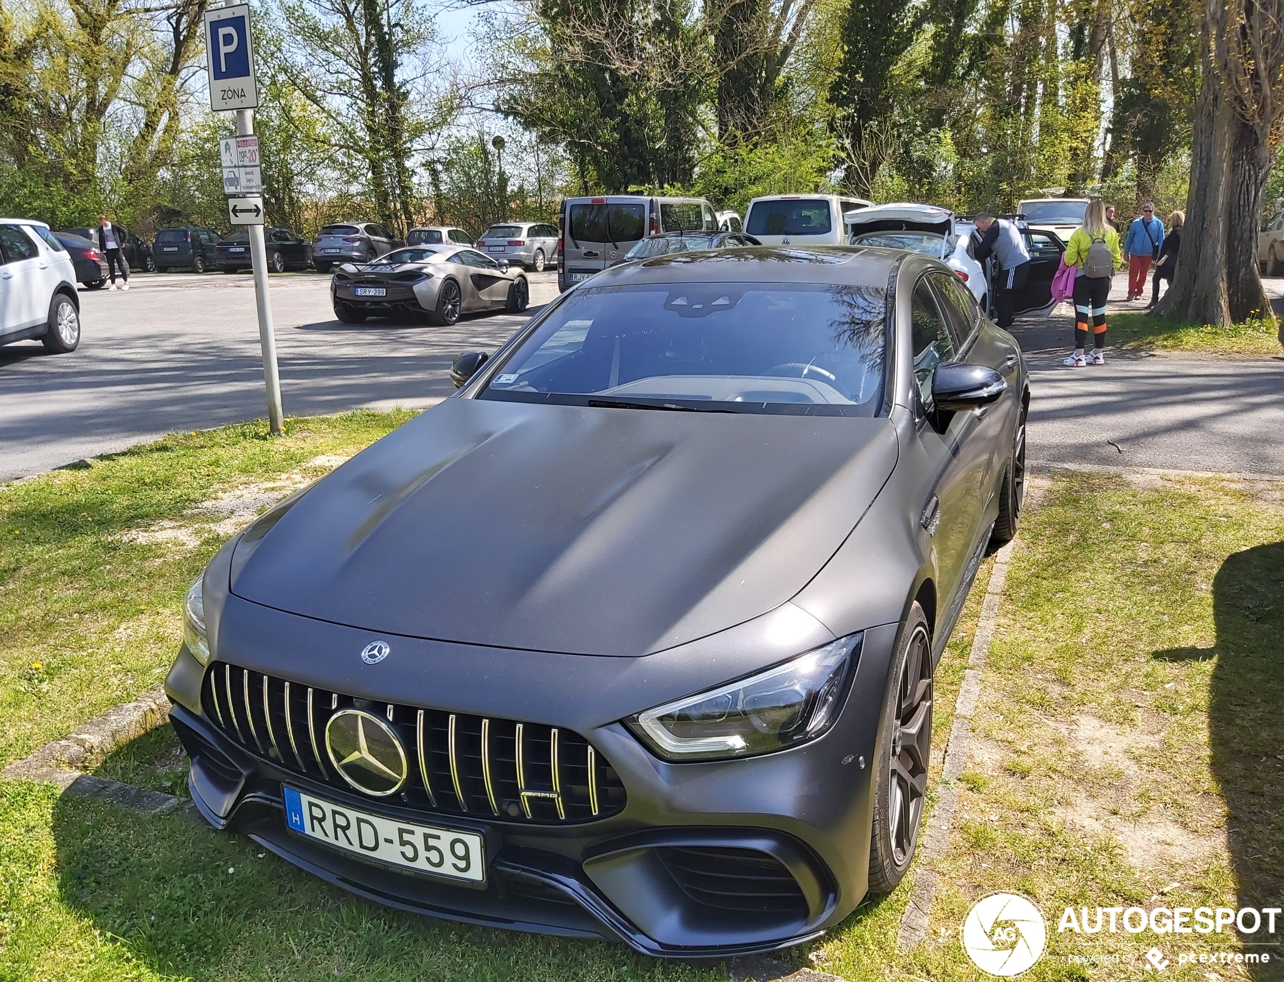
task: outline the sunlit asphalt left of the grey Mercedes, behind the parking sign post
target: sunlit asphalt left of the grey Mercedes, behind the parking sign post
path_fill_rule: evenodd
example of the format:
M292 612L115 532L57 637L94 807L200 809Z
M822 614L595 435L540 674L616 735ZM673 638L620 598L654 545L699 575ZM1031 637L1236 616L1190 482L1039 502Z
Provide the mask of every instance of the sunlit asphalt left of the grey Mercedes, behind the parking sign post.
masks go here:
M460 352L493 352L557 295L555 272L529 273L525 314L470 314L453 327L340 323L330 277L271 277L288 416L358 406L422 406L449 395ZM40 341L0 348L0 480L112 453L171 430L267 415L254 282L248 272L135 273L128 293L81 290L71 354Z

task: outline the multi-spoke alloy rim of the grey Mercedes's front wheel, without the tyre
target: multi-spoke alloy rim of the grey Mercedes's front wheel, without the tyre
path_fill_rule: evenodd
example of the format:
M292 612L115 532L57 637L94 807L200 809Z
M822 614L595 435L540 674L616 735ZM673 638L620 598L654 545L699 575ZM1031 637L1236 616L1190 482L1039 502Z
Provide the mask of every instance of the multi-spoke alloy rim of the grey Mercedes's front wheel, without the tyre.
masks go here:
M918 842L932 751L932 651L922 624L905 648L891 738L887 814L892 857L901 866L909 861Z

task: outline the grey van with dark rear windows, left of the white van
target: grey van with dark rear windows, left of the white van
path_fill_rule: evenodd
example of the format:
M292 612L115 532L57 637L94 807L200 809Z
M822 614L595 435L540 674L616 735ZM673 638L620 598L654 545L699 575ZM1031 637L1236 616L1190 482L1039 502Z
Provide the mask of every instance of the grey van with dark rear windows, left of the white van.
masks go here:
M566 198L557 228L557 289L565 291L624 262L629 249L648 235L716 232L718 213L704 198Z

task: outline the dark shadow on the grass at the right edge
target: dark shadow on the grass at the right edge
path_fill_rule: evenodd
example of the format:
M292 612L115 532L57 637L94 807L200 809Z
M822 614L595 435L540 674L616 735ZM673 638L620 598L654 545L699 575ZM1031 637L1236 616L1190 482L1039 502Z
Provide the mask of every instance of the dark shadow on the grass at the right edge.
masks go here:
M1226 801L1228 840L1240 908L1284 900L1284 542L1230 556L1212 583L1213 648L1157 651L1162 661L1216 656L1210 692L1212 770ZM1276 929L1280 923L1276 922ZM1279 935L1247 951L1284 958ZM1266 922L1245 942L1267 940ZM1245 967L1247 968L1247 967ZM1252 978L1278 979L1280 965L1257 965Z

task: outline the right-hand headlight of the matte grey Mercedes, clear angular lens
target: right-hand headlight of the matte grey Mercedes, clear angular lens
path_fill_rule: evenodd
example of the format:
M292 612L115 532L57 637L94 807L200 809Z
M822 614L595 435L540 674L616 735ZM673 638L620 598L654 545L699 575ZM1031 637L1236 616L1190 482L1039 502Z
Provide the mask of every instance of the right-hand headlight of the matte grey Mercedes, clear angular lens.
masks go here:
M860 634L838 638L751 678L639 712L628 724L665 760L747 757L814 739L837 719L859 648Z

